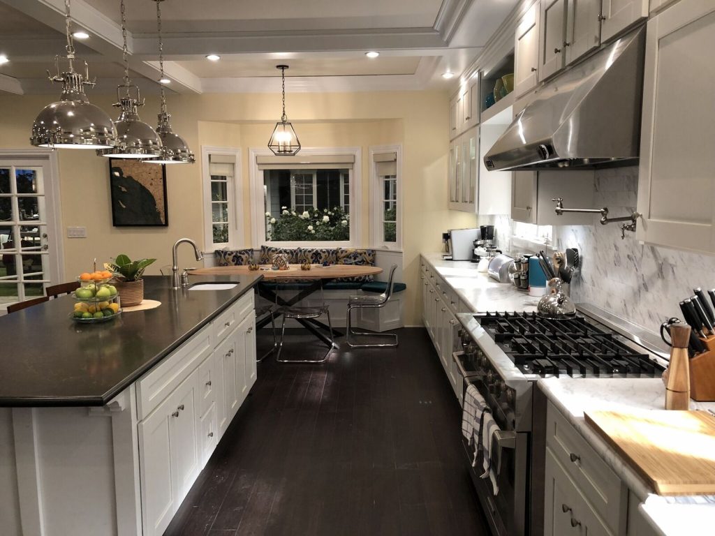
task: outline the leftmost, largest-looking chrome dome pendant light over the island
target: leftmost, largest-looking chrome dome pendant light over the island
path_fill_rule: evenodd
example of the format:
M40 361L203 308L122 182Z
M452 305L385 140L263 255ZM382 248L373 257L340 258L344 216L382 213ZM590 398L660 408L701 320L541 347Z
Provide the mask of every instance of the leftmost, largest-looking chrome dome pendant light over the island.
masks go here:
M55 56L56 74L49 74L51 82L62 83L59 101L53 102L37 115L32 124L30 143L35 147L51 149L104 149L114 147L117 131L112 118L99 106L89 104L84 86L94 86L89 80L89 68L84 62L84 75L74 71L74 44L72 43L69 0L64 0L66 56ZM59 58L67 59L69 69L59 72Z

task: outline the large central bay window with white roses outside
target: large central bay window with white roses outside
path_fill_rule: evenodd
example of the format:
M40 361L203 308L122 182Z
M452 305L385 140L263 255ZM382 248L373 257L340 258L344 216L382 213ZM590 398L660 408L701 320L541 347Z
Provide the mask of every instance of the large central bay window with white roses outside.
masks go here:
M275 157L262 149L250 154L255 162L252 196L262 213L254 247L266 242L331 247L358 242L355 203L350 201L358 182L359 149L304 149L295 157Z

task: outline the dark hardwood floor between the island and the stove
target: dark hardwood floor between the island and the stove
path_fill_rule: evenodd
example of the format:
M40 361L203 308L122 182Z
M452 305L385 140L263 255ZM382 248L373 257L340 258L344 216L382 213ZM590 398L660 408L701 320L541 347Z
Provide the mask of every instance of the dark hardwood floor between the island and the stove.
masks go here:
M267 357L166 534L488 535L432 343L398 333L397 349L342 344L326 364Z

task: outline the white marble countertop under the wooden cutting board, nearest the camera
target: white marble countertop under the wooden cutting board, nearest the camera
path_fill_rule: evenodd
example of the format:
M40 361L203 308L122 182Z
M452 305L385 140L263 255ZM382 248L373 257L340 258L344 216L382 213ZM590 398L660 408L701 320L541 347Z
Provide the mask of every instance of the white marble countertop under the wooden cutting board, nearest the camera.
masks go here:
M583 418L588 410L663 410L665 386L661 379L553 377L539 379L538 387L642 501L640 509L656 531L666 536L711 533L708 531L715 525L714 497L655 495ZM690 409L715 411L715 402L691 400Z

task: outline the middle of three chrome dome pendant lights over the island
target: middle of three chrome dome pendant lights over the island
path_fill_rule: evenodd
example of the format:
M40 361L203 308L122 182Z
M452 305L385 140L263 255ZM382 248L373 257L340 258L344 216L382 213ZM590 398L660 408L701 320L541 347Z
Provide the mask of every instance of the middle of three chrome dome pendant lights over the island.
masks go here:
M117 103L113 106L122 111L114 123L117 127L117 146L111 149L100 149L101 157L112 158L157 158L162 154L162 140L151 126L139 119L138 106L144 106L139 94L139 87L132 84L129 78L129 51L127 50L127 15L124 12L124 0L119 2L122 11L122 59L124 59L124 85L117 86ZM133 93L132 94L132 90Z

